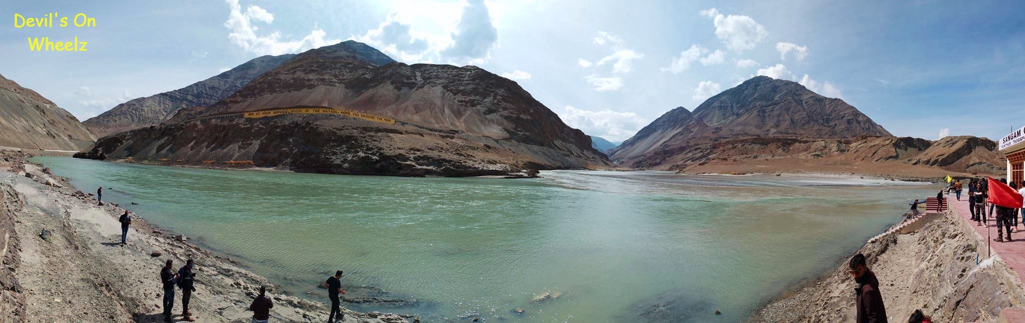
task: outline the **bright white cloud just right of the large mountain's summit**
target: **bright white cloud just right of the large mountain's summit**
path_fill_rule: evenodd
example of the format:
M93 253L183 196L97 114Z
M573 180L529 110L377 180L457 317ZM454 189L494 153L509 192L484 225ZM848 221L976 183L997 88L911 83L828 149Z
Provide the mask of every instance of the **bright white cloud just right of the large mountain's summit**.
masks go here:
M427 40L413 36L409 24L399 21L395 13L389 14L377 29L367 31L356 40L367 43L389 56L410 63L423 60L424 54L430 49Z

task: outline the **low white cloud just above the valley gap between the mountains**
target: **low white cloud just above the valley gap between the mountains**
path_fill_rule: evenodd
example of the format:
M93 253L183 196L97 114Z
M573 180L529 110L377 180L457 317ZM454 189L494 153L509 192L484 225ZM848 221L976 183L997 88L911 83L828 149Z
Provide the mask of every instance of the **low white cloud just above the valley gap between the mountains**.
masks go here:
M625 140L648 125L648 120L638 117L636 113L608 109L589 111L566 106L559 116L571 127L613 142Z

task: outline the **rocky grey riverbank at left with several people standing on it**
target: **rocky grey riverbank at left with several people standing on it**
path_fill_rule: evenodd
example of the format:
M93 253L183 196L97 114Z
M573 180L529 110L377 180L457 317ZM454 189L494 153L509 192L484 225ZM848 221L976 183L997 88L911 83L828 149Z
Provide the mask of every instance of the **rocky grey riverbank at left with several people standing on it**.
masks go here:
M235 261L165 234L135 217L128 243L120 245L117 205L96 205L22 152L2 152L0 233L7 271L0 274L0 309L11 322L158 322L158 274L166 259L174 268L193 258L197 292L190 310L200 322L247 322L259 286L275 301L272 317L283 322L319 322L329 307L287 294ZM145 214L144 214L145 215ZM175 320L180 320L180 295ZM346 313L344 322L417 322L395 314Z

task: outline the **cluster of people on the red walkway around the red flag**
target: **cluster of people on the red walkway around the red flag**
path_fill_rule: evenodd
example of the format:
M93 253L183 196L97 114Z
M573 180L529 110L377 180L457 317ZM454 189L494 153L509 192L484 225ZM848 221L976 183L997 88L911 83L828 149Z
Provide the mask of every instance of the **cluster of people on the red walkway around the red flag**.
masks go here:
M1002 178L1000 183L1008 184ZM1008 186L1014 190L1018 190L1020 194L1025 196L1025 181L1011 181ZM993 240L997 242L1011 241L1011 233L1017 231L1020 223L1025 224L1025 218L1021 220L1018 218L1020 215L1025 216L1025 212L1022 212L1022 209L1019 208L995 205L989 203L988 200L989 181L972 179L968 186L969 211L971 211L972 220L975 220L977 226L985 226L988 225L989 218L993 218L996 221L996 238ZM989 206L988 216L986 211L987 205ZM993 216L994 211L996 213L995 217ZM1003 239L1004 233L1008 236L1007 240Z

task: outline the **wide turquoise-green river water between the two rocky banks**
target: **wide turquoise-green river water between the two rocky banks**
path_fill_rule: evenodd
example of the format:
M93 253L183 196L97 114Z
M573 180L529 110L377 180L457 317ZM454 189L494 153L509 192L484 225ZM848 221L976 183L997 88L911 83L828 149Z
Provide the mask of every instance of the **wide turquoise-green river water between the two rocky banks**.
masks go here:
M324 300L314 285L340 269L352 295L416 300L350 308L425 322L744 320L794 283L835 268L936 187L647 171L410 178L34 161L82 191L102 186L105 200L241 259L290 293ZM532 300L542 292L561 296Z

